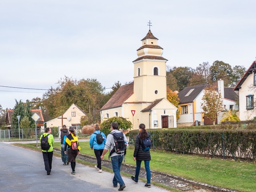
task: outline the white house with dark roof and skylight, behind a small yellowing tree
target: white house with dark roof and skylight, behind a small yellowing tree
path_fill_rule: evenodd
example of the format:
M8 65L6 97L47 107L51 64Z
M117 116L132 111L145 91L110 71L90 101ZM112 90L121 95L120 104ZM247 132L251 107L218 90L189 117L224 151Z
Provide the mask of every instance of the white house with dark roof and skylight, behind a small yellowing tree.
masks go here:
M178 93L180 99L179 109L180 118L177 121L177 126L191 126L197 122L201 125L213 124L208 118L204 117L204 111L201 108L201 102L204 95L204 90L207 84L186 87ZM238 95L233 90L233 87L224 87L224 81L218 80L218 92L223 98L224 110L238 110L236 100ZM220 123L222 114L218 116L216 124Z

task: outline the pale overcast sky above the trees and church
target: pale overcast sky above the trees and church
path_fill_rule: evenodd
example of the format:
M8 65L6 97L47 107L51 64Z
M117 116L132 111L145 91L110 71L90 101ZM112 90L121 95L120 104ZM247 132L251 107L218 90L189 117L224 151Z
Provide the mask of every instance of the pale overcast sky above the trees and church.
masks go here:
M0 105L45 92L3 86L49 89L65 75L106 88L132 81L149 20L170 67L248 68L255 8L255 0L0 0Z

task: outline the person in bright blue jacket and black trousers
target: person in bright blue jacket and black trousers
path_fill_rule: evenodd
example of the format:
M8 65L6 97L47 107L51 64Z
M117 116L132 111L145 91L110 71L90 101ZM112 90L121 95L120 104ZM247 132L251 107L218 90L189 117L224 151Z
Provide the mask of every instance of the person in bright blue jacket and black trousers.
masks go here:
M103 149L105 147L106 136L104 133L102 133L100 131L100 126L98 124L94 124L93 127L94 127L95 132L91 134L90 147L91 147L91 149L94 149L94 153L95 153L95 156L97 159L97 165L95 165L94 167L98 170L98 172L102 172L100 156L102 155ZM96 138L97 134L102 135L102 139L103 139L102 144L98 144L97 138Z

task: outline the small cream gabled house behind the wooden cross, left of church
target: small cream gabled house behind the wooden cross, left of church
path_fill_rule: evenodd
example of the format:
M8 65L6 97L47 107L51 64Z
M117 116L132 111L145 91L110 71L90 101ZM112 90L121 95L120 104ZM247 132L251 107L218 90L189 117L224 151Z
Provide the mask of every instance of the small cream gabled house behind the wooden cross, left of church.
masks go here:
M81 124L80 119L85 115L83 110L73 103L63 115L47 121L46 125L47 127L77 126Z

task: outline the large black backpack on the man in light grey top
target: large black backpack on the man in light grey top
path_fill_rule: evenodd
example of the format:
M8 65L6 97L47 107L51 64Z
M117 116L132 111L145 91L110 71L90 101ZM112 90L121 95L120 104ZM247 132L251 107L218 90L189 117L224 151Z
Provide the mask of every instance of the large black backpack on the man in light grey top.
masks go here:
M123 133L122 132L120 132L120 133L112 132L110 134L113 135L113 137L114 137L114 149L112 149L110 151L109 156L114 152L118 153L118 154L125 155L126 145L125 145Z

